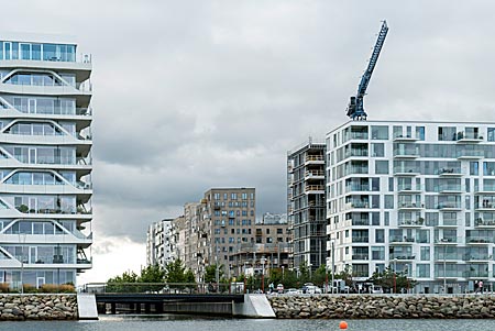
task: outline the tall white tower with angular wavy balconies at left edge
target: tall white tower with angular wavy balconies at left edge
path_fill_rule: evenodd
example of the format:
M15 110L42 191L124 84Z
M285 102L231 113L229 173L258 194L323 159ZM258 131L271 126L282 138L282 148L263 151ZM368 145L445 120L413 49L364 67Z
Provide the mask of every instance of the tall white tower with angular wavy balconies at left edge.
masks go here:
M76 284L91 267L91 57L79 54L62 38L0 41L0 283L11 287Z

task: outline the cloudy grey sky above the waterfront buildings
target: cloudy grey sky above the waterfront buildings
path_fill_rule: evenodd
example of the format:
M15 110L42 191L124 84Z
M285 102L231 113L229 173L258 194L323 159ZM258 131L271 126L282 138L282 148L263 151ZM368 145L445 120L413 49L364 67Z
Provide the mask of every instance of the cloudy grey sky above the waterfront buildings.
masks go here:
M495 121L492 0L1 0L0 31L92 55L94 268L145 265L150 223L211 187L286 210L287 151L348 121L373 45L369 120Z

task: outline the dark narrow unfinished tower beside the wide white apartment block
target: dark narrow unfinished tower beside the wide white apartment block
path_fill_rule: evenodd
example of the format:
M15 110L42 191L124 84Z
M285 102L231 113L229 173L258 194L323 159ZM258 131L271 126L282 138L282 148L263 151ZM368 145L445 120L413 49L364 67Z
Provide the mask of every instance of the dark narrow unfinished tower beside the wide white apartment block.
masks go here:
M293 227L294 267L317 269L327 257L324 143L308 143L288 152L287 214Z

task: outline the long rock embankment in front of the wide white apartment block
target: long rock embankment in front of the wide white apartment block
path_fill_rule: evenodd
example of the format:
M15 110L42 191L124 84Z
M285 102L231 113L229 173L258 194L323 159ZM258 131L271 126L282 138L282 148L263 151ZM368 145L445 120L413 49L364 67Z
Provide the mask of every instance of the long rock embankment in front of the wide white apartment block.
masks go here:
M268 297L279 319L495 318L495 296L348 295Z

